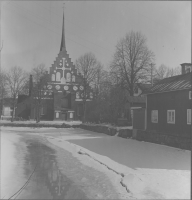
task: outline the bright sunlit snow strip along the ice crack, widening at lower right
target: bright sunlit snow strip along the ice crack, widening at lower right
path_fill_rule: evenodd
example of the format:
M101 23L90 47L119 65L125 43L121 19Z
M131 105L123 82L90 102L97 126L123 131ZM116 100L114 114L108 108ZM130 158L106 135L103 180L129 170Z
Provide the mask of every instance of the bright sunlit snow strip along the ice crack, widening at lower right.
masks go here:
M62 139L61 139L62 138ZM49 142L68 151L78 152L97 161L109 170L121 176L120 183L134 198L140 199L189 199L190 171L166 169L132 169L115 162L109 157L99 155L68 141L78 137L62 136L61 138L47 138ZM79 137L81 138L81 137ZM82 138L81 138L82 139ZM88 141L87 141L88 142ZM177 153L178 151L175 151ZM76 157L76 154L73 154Z

